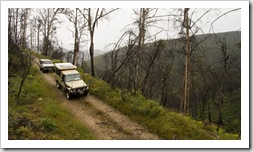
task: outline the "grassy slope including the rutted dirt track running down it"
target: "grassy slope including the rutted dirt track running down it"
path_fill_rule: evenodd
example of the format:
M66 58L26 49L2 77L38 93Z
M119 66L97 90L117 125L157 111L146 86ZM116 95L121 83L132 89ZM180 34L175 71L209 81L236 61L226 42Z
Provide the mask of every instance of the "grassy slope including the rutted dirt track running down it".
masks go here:
M9 139L238 139L238 135L222 129L217 132L215 125L169 112L140 94L133 97L112 89L88 74L82 74L82 78L90 85L91 94L69 101L56 88L53 73L42 73L34 67L24 91L35 87L29 91L35 98L27 101L23 96L22 106L9 105ZM20 108L26 110L18 115ZM20 118L28 123L17 124Z

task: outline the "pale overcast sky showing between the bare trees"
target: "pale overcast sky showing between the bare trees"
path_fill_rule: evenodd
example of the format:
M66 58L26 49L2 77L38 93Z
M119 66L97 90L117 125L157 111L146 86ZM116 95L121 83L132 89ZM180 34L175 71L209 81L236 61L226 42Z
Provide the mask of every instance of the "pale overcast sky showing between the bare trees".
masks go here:
M210 32L210 23L214 21L219 15L221 15L224 12L227 12L230 9L213 9L209 14L205 15L202 20L200 20L197 24L200 28L203 29L203 33L209 33ZM165 11L171 11L169 8L166 9L160 9L160 13L164 14ZM192 8L191 10L195 10ZM197 13L194 13L193 18L195 20L199 18L207 9L197 9ZM95 29L95 37L94 37L94 44L95 49L105 50L108 51L106 46L111 43L115 43L120 36L124 32L124 27L132 22L134 22L135 15L133 14L132 8L121 8L120 10L112 13L109 15L109 18L107 20L102 20L99 22L98 27ZM73 37L72 33L67 29L72 29L73 24L68 23L67 19L64 17L61 17L64 22L59 25L59 28L57 29L57 37L59 40L61 40L63 47L69 50L73 49ZM174 28L172 28L173 24L172 22L164 21L163 23L159 23L159 26L167 29L168 31L162 32L160 35L158 35L157 39L163 38L163 39L171 39L176 38L178 36L178 31L176 31ZM134 27L134 26L128 26L128 27ZM213 26L213 30L218 32L227 32L227 31L236 31L240 30L241 28L241 11L235 11L231 12L222 18L220 18L217 22L215 22ZM153 33L155 33L158 29L151 29ZM168 34L168 36L166 35ZM201 34L201 33L200 33ZM88 39L87 36L84 37L85 39ZM81 47L81 50L86 50L89 48L89 43L86 42L85 44L82 44L83 47Z

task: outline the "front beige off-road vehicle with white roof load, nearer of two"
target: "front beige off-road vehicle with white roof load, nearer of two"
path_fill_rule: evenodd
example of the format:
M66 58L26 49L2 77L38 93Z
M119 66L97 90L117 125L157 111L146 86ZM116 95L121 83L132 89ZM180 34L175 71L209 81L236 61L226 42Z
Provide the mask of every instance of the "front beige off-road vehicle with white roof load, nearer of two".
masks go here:
M68 99L89 92L89 87L81 79L76 66L71 63L55 63L55 78L57 88L62 89Z

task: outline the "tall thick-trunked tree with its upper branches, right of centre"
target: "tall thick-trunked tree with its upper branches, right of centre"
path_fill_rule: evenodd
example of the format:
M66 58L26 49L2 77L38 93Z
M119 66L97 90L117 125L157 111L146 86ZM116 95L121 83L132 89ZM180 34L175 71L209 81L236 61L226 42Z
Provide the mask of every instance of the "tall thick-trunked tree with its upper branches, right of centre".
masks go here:
M191 11L192 10L192 11ZM212 9L205 10L204 13L197 17L196 19L195 14L197 14L198 9L190 9L184 8L183 9L183 21L181 23L181 33L183 38L185 39L184 45L184 55L185 55L185 66L184 66L184 76L183 76L183 99L181 102L181 112L183 115L188 116L190 115L190 96L191 96L191 56L193 51L198 47L199 44L207 40L208 37L205 39L193 43L196 33L199 31L202 32L202 29L197 26L197 23L202 20L202 18L208 14ZM191 12L190 12L191 11Z

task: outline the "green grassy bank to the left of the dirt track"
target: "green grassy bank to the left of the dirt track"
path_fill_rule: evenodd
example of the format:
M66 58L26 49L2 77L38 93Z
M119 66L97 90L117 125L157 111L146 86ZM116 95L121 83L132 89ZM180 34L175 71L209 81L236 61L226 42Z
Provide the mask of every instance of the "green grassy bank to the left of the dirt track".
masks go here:
M19 102L16 77L9 80L9 139L73 140L95 139L95 136L61 105L41 74L32 67Z

